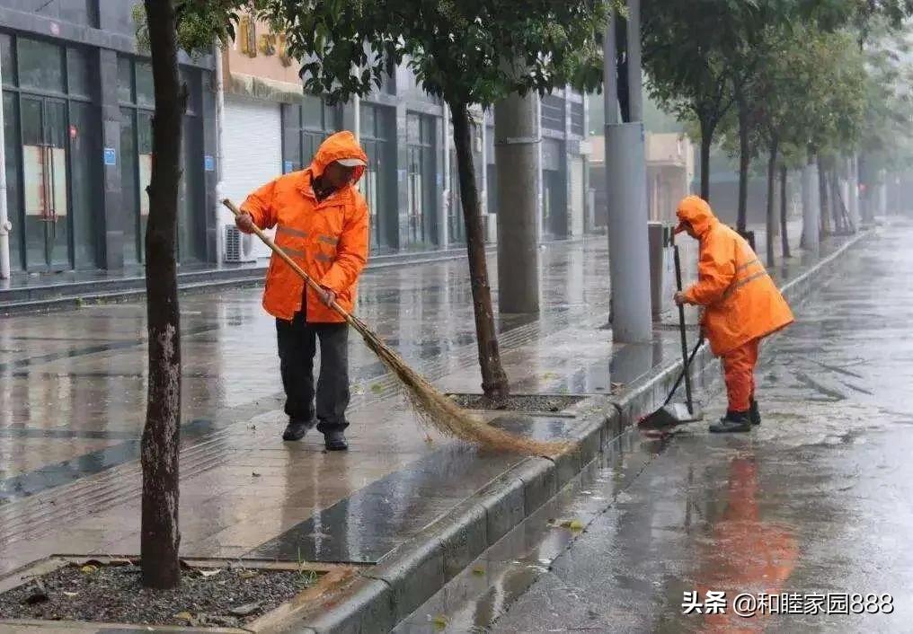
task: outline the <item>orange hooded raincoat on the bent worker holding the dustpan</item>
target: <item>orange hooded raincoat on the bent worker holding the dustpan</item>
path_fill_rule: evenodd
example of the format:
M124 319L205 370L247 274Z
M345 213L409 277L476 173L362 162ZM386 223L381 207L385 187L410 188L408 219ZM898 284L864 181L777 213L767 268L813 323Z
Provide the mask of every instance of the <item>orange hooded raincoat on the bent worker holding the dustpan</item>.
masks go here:
M792 311L758 256L706 201L687 196L678 203L678 219L690 223L700 240L698 283L685 298L706 307L701 325L715 355L792 324Z

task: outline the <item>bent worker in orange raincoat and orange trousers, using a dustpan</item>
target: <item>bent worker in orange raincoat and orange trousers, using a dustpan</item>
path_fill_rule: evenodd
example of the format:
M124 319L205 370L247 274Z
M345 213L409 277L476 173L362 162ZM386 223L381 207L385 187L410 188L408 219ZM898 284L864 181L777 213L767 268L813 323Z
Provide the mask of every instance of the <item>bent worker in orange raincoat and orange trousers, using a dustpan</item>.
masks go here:
M698 196L678 203L676 233L700 241L698 283L676 293L680 306L704 307L701 327L710 349L720 357L726 376L729 408L710 431L750 431L761 423L754 398L754 367L761 338L792 324L786 304L771 276L744 238L719 220Z

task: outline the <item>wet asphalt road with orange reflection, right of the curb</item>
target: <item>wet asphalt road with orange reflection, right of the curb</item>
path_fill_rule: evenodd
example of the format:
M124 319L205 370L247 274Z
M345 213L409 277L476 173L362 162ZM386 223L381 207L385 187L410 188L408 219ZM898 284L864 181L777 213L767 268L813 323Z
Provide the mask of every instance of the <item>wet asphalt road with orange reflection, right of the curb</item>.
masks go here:
M466 600L450 588L401 631L427 630L436 609L446 631L913 631L911 239L885 228L855 247L764 346L759 429L697 423L662 445L635 432L538 527L495 546L507 556L479 560L487 589L466 577ZM722 395L708 398L719 416ZM683 614L686 592L708 590L726 593L726 614ZM790 613L736 616L740 593L789 593ZM842 613L845 595L865 608L870 593L871 611L891 613ZM821 602L837 613L814 614Z

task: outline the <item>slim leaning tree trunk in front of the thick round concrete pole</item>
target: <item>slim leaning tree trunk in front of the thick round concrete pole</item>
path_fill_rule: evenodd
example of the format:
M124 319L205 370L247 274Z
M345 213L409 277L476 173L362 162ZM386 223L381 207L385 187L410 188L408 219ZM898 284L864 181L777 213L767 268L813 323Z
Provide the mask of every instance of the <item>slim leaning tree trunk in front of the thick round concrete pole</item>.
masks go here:
M509 395L509 384L507 374L501 367L494 311L491 308L491 287L488 286L488 264L485 259L485 236L482 232L482 213L478 206L476 171L472 161L469 109L465 103L449 105L454 122L460 200L463 202L463 220L466 223L469 279L472 285L473 309L476 313L478 365L482 370L482 390L488 398L501 400Z

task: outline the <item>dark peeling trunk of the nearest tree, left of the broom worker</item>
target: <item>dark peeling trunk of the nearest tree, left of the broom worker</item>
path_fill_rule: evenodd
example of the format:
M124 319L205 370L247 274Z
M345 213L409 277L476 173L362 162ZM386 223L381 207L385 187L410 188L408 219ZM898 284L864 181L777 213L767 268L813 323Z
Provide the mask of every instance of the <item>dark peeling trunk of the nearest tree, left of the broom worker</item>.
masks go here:
M185 93L178 76L173 0L145 0L155 85L152 179L146 227L149 387L142 432L142 584L177 587L181 327L175 236Z

